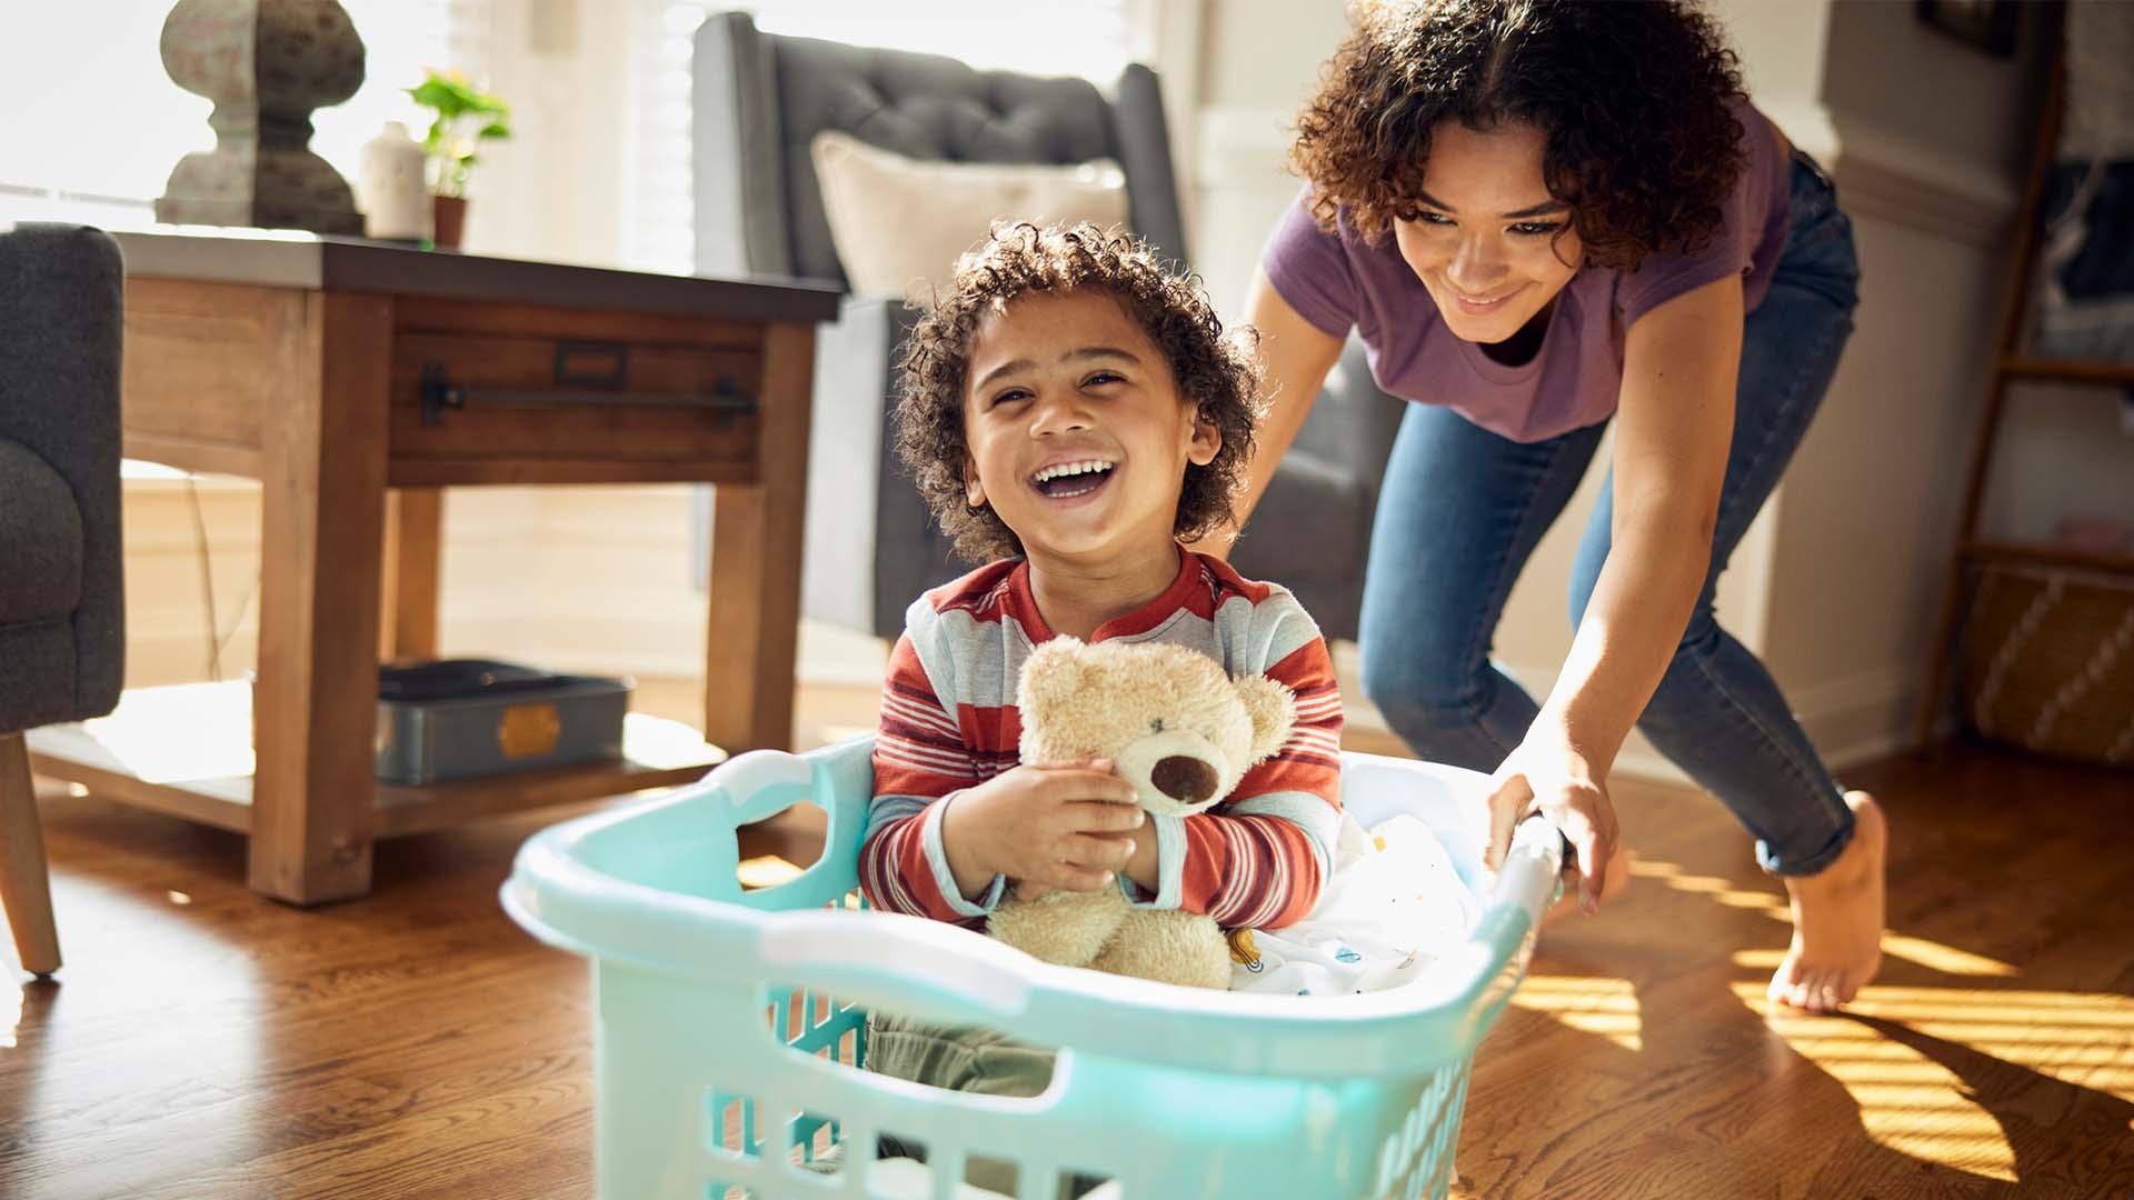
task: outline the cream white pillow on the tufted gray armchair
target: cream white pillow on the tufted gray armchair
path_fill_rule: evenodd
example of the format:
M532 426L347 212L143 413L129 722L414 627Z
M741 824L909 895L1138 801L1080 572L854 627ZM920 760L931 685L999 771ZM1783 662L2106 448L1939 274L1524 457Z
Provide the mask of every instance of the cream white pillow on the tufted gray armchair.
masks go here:
M1127 173L1110 158L935 162L837 130L817 132L809 156L854 295L945 286L956 256L984 241L994 220L1127 224Z

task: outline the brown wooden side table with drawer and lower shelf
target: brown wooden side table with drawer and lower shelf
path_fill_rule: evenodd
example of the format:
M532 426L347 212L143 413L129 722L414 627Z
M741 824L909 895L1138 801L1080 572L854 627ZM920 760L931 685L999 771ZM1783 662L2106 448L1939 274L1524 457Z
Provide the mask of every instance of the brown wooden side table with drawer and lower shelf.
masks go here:
M248 833L256 890L322 903L369 890L378 837L685 781L723 749L792 741L832 288L312 235L117 239L126 455L262 483L258 679L128 692L113 717L32 735L38 773ZM376 784L380 653L437 649L442 489L542 483L717 487L702 739L676 747L632 715L623 762ZM207 754L243 758L243 741L250 773ZM177 767L141 769L173 752Z

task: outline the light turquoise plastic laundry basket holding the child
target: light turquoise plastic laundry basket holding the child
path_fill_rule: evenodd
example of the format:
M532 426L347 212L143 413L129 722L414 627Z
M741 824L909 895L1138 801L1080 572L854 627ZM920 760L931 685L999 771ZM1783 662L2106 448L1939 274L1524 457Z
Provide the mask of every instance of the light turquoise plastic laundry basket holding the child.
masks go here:
M1270 997L1037 963L965 929L858 912L871 739L743 754L691 788L531 837L504 907L593 961L595 1172L604 1200L967 1198L967 1159L1020 1200L1065 1177L1120 1200L1443 1196L1468 1063L1556 895L1539 820L1468 940L1391 991ZM1366 826L1421 818L1483 890L1483 777L1342 756ZM798 878L743 893L736 826L828 811ZM977 1023L1061 1051L1031 1100L854 1070L869 1008ZM766 1019L768 1016L768 1019ZM877 1138L924 1147L922 1191ZM843 1142L834 1174L802 1166Z

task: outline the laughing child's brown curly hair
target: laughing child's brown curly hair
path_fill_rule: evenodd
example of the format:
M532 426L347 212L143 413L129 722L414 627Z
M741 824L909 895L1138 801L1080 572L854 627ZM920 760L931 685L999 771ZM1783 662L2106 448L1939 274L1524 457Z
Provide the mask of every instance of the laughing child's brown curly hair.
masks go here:
M1172 534L1191 542L1233 519L1231 500L1244 485L1259 423L1259 359L1253 335L1223 333L1208 295L1193 278L1163 269L1154 252L1116 228L1095 224L997 224L992 237L956 260L945 295L922 310L905 340L896 382L896 453L920 495L956 542L956 553L992 562L1022 553L1022 540L990 504L965 500L965 382L971 340L990 312L1026 293L1090 288L1110 295L1163 352L1178 393L1223 436L1208 465L1187 465Z

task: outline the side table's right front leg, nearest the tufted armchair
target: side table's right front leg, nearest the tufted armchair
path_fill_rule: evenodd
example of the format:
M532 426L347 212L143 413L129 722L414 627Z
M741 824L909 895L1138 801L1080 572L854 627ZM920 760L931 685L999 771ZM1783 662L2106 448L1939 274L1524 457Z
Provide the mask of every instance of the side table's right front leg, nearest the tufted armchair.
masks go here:
M800 527L815 327L773 325L764 342L762 474L721 485L711 517L704 741L732 754L790 749L800 638Z

